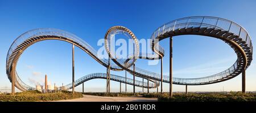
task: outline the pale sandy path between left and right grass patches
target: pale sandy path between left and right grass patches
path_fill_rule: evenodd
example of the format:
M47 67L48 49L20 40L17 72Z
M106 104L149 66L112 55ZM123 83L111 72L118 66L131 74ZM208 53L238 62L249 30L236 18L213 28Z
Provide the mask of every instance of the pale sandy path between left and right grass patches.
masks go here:
M67 99L56 102L156 102L157 98L145 97L102 97L96 95L84 95L82 98Z

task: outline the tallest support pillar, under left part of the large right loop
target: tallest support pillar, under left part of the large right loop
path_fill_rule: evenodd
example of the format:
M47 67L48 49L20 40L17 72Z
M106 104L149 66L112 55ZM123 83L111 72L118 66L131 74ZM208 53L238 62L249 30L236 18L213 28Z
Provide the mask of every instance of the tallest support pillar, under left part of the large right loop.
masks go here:
M172 97L172 37L170 37L170 97Z

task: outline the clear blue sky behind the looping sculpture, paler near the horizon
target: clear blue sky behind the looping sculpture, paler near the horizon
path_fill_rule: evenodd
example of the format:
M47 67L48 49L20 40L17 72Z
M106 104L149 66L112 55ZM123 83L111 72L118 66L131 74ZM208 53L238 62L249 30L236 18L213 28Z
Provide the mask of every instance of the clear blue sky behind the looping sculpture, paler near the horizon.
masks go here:
M2 1L0 0L0 87L9 87L5 64L11 43L20 34L35 28L58 28L76 34L96 50L97 41L114 25L125 26L141 38L149 38L154 30L168 21L187 16L216 16L233 20L250 34L253 45L256 36L255 1ZM169 73L168 39L161 41L166 51L163 72ZM210 37L174 37L174 76L202 77L224 71L236 61L236 54L224 42ZM253 56L255 59L255 55ZM160 64L147 66L147 60L138 59L136 65L160 73ZM255 62L247 69L246 90L256 90ZM62 41L43 41L30 46L19 59L17 72L27 84L48 75L48 80L60 86L72 80L72 45ZM75 48L76 79L106 68L88 54ZM114 72L124 76L125 72ZM132 78L131 75L128 77ZM106 80L85 82L86 92L105 92ZM124 85L122 85L124 86ZM112 92L119 92L119 83L112 81ZM1 89L0 88L0 89ZM168 84L163 85L164 92ZM241 90L241 75L211 85L188 86L189 91ZM122 88L124 90L124 87ZM128 91L133 87L128 85ZM142 88L136 88L141 91ZM81 86L76 90L81 91ZM185 86L174 85L174 91ZM154 89L150 91L155 91Z

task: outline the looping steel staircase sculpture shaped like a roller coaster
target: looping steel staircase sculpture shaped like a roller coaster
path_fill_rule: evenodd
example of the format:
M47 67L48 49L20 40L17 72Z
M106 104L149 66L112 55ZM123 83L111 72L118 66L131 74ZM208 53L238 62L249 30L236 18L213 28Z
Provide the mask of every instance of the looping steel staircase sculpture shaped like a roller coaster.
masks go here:
M118 33L125 33L127 36L132 38L136 44L134 55L132 55L127 60L114 58L110 53L110 35ZM232 49L237 54L236 62L234 62L232 66L222 72L193 79L179 77L170 78L169 75L161 75L159 73L147 71L134 66L135 60L139 58L162 59L164 57L164 49L158 44L158 42L165 38L172 38L174 36L187 34L208 36L224 41L226 44L230 45L230 47L232 47ZM247 31L233 21L210 16L192 16L188 18L181 18L170 21L157 28L151 35L151 49L154 51L155 55L139 53L139 44L137 38L133 32L130 31L130 29L121 26L112 27L105 35L105 48L109 54L109 59L98 58L97 51L84 40L81 40L81 38L77 37L75 34L62 31L60 29L39 28L23 33L18 38L16 38L13 44L11 44L6 56L7 77L10 82L12 82L13 85L15 85L15 87L19 90L25 91L35 89L24 83L16 72L16 64L18 62L19 56L23 53L24 50L27 49L27 47L35 44L36 42L45 40L60 40L69 42L84 50L85 53L88 53L90 56L92 56L92 58L95 59L98 63L108 68L107 73L92 73L81 77L75 81L75 86L92 79L110 79L113 81L119 81L143 88L158 88L160 85L159 81L167 83L172 81L171 83L178 85L205 85L229 80L242 73L242 90L245 92L245 70L250 66L251 60L253 60L253 45L251 42L251 37ZM113 62L110 62L110 59L112 59ZM110 75L110 69L113 71L125 70L137 77L149 79L151 83L147 84L138 80L133 82L133 79L128 79L117 75ZM72 84L66 85L65 88L71 89Z

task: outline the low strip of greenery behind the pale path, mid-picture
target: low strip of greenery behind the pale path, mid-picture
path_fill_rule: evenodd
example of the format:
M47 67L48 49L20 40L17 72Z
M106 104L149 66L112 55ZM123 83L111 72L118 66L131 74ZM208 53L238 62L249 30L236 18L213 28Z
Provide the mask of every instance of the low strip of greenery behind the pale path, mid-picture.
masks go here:
M141 95L141 93L135 93L135 95L133 93L93 93L93 92L89 92L89 93L83 93L83 94L88 94L88 95L97 95L97 96L104 96L104 97L138 97L139 95Z

